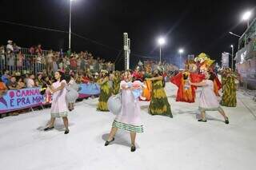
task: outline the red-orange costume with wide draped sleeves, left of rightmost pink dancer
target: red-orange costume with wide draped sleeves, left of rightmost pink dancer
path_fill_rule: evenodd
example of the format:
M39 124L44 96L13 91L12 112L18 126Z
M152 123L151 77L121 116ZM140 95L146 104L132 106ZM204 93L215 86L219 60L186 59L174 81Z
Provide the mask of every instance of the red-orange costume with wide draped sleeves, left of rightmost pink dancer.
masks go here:
M203 78L204 75L202 74L190 72L178 73L176 76L171 77L170 82L178 86L176 101L194 103L196 87L194 85L189 85L188 79L195 83L202 81Z

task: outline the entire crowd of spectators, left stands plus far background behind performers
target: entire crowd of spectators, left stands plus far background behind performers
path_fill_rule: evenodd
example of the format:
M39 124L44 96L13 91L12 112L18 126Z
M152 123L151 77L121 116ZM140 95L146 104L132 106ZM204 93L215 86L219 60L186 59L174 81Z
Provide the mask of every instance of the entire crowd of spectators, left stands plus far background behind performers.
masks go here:
M147 72L161 68L167 74L178 70L175 65L166 61L139 61L138 67ZM112 73L114 64L95 58L88 51L46 51L40 44L24 49L9 40L6 46L0 47L0 95L7 89L34 88L42 86L43 82L51 83L57 70L72 74L77 83L89 83L96 82L101 77L101 70Z

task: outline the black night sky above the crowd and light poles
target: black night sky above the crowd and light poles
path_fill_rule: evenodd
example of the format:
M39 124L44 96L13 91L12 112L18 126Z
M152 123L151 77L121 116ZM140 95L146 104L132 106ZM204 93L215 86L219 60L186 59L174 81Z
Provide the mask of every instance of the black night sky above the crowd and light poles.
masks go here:
M1 0L0 20L54 30L69 29L69 0ZM223 51L238 45L238 38L229 34L242 34L246 23L241 22L245 10L254 8L255 0L227 1L162 1L162 0L75 0L72 2L72 32L85 38L72 36L72 49L89 50L96 57L115 61L122 49L122 33L131 39L131 62L142 56L158 59L156 39L165 36L163 58L178 61L178 48L184 55L205 52L212 59L221 60ZM68 34L35 30L0 22L0 44L8 39L22 47L41 43L44 49L67 49ZM95 42L97 43L95 43ZM103 44L103 45L100 45ZM120 55L121 57L122 55ZM144 58L145 59L145 58ZM123 69L123 58L116 63Z

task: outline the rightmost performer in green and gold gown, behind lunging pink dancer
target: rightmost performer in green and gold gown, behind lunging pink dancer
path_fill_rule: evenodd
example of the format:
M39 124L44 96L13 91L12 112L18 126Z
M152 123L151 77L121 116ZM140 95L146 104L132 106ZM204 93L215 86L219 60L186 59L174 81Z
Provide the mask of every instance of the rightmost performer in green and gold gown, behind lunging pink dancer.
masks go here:
M221 105L227 107L235 107L237 105L237 93L235 80L238 76L232 73L231 69L225 69L222 73L222 85L223 89Z

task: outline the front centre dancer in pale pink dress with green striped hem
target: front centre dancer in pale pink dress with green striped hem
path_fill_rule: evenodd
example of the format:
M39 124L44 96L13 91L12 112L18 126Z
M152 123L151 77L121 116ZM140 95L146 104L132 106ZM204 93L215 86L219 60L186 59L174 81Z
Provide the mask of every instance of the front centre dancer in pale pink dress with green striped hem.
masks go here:
M136 132L143 132L143 126L140 119L140 105L135 101L132 93L133 88L129 86L132 81L132 76L129 71L124 73L123 81L120 83L120 89L122 89L122 109L121 113L114 119L110 136L106 140L105 146L114 141L114 135L118 131L118 128L130 132L131 148L130 151L134 152Z

